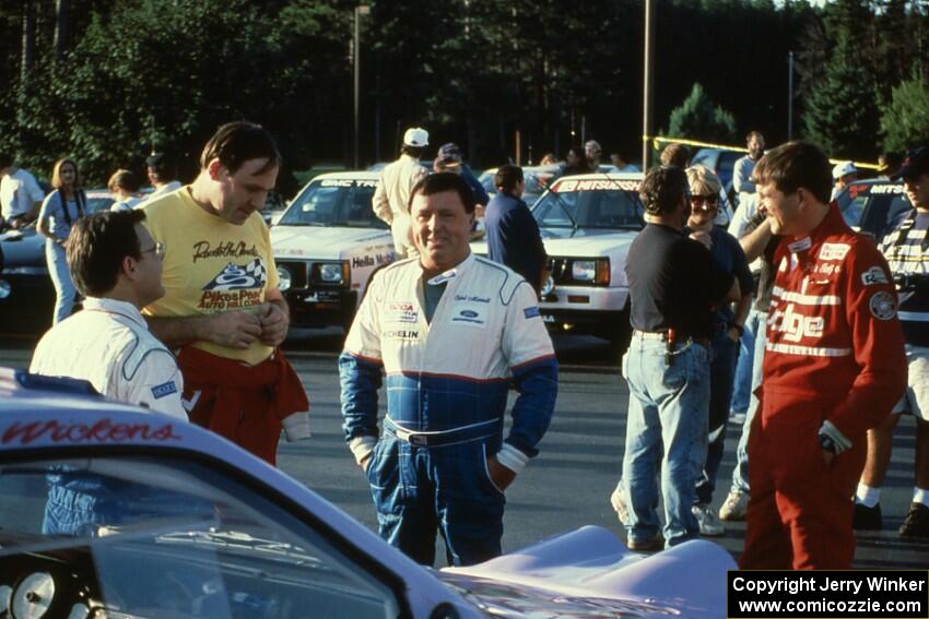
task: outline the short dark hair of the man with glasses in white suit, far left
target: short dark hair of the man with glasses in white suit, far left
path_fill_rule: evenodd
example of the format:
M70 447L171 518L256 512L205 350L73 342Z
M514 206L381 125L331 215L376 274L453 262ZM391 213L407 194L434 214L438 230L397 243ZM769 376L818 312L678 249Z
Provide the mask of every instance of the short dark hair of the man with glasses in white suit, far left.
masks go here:
M122 260L142 259L136 224L145 219L140 209L102 211L81 217L68 237L68 265L82 295L102 297L116 286Z

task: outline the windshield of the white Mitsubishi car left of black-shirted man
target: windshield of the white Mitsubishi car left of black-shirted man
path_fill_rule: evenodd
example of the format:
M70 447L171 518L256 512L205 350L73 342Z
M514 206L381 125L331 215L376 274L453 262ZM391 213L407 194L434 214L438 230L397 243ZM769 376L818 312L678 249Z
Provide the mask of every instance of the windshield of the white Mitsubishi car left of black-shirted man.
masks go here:
M539 199L532 215L540 227L550 228L640 230L645 226L638 181L609 177L561 179Z

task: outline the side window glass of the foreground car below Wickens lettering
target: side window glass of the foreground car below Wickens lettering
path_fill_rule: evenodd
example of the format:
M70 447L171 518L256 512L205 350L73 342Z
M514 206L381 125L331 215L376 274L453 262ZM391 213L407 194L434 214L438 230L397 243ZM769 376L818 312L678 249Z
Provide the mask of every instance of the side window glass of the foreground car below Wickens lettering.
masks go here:
M0 607L19 604L13 616L40 615L31 592L56 617L400 610L393 591L328 529L210 463L116 454L4 463L0 492Z

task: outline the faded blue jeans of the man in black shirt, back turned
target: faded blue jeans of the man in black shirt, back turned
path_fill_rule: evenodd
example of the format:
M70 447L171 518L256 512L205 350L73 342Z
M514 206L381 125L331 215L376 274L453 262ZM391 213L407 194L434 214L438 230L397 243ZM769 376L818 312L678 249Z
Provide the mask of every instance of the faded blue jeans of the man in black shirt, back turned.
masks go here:
M699 532L691 507L696 472L706 459L710 353L699 344L680 343L669 366L666 350L661 340L636 334L623 356L630 404L622 483L628 538L647 540L660 524L655 472L661 463L665 545L671 547Z

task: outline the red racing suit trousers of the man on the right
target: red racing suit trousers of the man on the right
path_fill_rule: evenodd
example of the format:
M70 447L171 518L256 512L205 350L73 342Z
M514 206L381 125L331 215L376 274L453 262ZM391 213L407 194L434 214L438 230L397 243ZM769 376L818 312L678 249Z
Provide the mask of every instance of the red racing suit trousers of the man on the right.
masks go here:
M847 394L798 393L764 388L749 433L745 570L842 570L851 567L855 534L851 497L865 467L867 441L827 465L819 429Z

